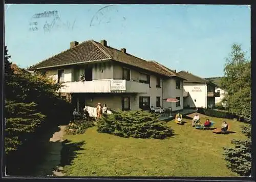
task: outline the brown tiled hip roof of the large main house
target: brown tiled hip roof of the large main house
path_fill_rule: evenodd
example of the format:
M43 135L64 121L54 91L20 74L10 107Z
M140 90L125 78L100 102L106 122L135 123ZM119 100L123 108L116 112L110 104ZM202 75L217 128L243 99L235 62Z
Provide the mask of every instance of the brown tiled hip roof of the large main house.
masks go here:
M49 59L31 66L29 70L101 60L114 60L137 66L141 69L155 72L164 76L180 77L174 71L167 69L165 66L155 61L143 60L131 54L123 53L122 51L111 48L109 46L104 46L94 40L82 42L76 45L74 48L63 51Z

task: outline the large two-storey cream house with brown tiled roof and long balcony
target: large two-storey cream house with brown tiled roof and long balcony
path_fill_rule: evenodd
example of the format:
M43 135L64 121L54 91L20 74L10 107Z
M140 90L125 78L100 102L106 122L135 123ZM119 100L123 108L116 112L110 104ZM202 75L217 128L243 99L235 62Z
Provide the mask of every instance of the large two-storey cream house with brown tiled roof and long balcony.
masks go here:
M105 40L71 42L69 50L32 66L31 70L62 83L61 95L70 98L78 111L84 105L95 107L97 103L113 110L149 110L151 106L183 109L183 77L158 62L111 48ZM167 103L165 98L179 102Z

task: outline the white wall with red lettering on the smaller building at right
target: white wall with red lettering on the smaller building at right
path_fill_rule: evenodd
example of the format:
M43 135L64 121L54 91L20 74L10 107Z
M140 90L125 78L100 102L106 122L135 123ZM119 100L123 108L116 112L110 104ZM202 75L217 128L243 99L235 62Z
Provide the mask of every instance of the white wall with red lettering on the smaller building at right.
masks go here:
M184 99L184 106L189 105L190 107L207 107L206 83L185 84L183 88L185 92L189 92L189 96Z

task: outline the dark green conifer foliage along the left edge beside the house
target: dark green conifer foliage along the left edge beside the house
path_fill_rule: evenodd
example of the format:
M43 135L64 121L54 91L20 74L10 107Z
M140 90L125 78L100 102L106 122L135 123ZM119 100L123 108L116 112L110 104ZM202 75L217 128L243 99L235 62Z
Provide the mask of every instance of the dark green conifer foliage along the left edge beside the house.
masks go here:
M61 85L26 71L14 74L10 57L5 46L5 151L9 160L39 137L39 132L48 131L52 124L68 123L71 115L70 104L57 94Z

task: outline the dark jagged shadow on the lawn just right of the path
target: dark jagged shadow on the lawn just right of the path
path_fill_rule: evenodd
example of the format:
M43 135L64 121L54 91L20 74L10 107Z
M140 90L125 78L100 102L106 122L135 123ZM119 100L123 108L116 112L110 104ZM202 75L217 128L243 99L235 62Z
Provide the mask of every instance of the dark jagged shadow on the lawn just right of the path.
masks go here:
M86 144L86 142L77 142L70 143L71 141L65 140L62 142L62 150L61 150L61 160L60 166L64 167L66 165L70 165L74 158L77 156L78 151L84 150L81 146Z

